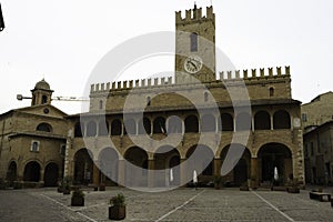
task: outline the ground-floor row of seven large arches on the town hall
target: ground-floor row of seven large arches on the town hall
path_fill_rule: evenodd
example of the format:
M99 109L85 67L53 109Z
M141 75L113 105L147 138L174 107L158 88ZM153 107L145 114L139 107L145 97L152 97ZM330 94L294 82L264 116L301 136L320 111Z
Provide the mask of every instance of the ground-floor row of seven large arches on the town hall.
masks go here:
M180 150L168 145L159 148L155 153L132 147L124 152L125 161L113 148L102 149L97 161L92 161L90 151L81 149L74 155L73 175L79 184L178 186L190 182L195 170L199 181L209 183L221 172L221 167L228 164L230 149L234 149L231 153L240 157L232 160L233 168L222 178L230 185L239 186L250 179L252 185L256 186L271 183L274 168L282 183L293 174L291 150L281 143L266 143L255 153L258 158L253 158L250 150L241 144L226 145L216 155L205 145L193 145L186 150L183 159Z

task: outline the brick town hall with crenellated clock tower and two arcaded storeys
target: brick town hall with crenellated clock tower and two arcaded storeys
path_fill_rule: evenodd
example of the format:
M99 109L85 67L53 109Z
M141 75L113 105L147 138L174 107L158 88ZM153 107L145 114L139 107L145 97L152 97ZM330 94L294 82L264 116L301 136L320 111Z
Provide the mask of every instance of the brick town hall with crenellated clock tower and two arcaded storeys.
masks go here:
M59 121L44 120L53 129L43 132L48 140L65 143L63 174L83 184L169 186L184 185L194 170L199 181L212 181L223 165L223 181L234 185L263 185L272 181L274 168L281 182L293 176L304 183L301 111L292 99L290 68L230 71L216 78L213 8L204 17L196 7L184 18L175 12L175 27L173 77L95 82L89 112L64 117L58 111ZM63 131L57 138L59 124ZM30 141L33 137L24 135ZM41 150L30 153L28 143L17 148L26 149L26 161L12 155L11 162L1 162L8 171L17 164L18 180L29 160L47 170L48 158Z

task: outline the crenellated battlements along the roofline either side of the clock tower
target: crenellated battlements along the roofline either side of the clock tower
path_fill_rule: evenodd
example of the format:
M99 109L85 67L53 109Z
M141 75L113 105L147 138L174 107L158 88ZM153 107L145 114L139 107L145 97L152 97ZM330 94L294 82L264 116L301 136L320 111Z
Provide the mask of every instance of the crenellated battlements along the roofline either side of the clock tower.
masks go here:
M273 68L261 68L261 69L251 69L251 70L234 70L234 71L223 71L220 72L220 77L216 78L216 81L225 81L225 80L240 80L244 81L261 81L261 80L270 80L276 78L285 78L290 77L290 67L276 67ZM162 77L154 79L141 79L141 80L130 80L130 81L118 81L118 82L108 82L108 83L97 83L91 84L90 92L109 92L109 91L118 91L118 90L131 90L134 88L155 88L162 85L173 85L176 84L174 82L173 77Z

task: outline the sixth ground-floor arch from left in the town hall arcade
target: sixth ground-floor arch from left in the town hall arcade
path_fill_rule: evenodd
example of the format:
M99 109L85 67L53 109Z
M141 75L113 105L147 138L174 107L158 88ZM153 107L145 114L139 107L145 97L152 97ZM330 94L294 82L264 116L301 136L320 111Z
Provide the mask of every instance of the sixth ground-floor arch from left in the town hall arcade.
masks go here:
M238 143L226 145L221 152L221 161L223 168L230 169L229 173L223 176L228 185L240 186L248 182L251 175L251 152L246 147Z

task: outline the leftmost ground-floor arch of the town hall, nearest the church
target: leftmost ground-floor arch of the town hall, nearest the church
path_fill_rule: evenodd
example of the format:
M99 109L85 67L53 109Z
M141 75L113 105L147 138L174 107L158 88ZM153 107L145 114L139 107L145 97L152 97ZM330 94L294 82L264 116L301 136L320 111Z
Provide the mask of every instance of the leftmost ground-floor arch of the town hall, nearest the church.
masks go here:
M85 148L79 150L74 155L74 183L92 183L93 161L92 154Z

